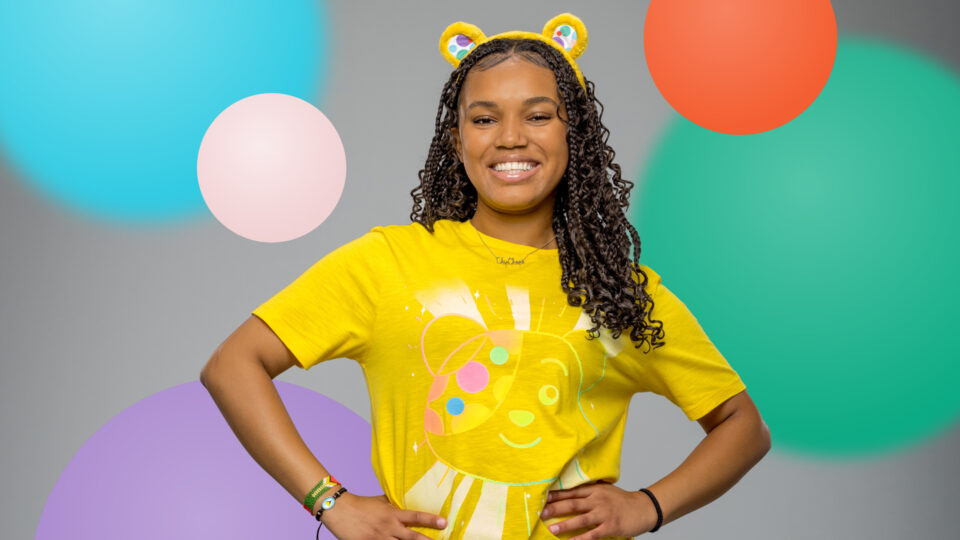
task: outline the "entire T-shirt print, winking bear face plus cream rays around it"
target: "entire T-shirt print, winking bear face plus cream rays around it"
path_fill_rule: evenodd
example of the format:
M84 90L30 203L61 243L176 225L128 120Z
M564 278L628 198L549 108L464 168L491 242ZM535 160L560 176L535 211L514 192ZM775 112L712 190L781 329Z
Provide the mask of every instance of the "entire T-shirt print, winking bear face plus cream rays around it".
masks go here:
M405 502L425 511L447 508L448 521L462 524L437 538L500 538L497 524L508 508L525 513L533 526L551 486L590 480L576 456L599 432L581 395L602 371L585 372L581 355L596 362L597 348L603 356L606 345L584 345L584 334L575 332L590 326L584 315L563 319L565 333L542 330L544 317L554 317L555 328L566 307L545 314L540 301L534 316L523 288L507 285L496 303L451 284L417 298L429 310L419 351L433 377L423 403L423 447L435 461ZM537 500L528 502L531 493Z

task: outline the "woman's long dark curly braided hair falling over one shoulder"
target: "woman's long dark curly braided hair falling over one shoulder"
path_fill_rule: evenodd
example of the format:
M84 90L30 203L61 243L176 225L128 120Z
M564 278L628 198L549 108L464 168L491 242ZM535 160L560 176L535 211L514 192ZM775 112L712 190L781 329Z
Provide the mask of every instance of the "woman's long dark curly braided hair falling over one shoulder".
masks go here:
M533 39L494 39L471 51L450 74L440 94L436 132L424 168L418 173L410 219L430 233L438 219L466 221L477 209L477 191L457 158L450 128L458 126L457 105L470 69L489 69L518 56L551 69L567 110L569 162L556 188L553 231L562 266L560 286L567 302L583 306L594 326L591 338L606 326L614 339L629 329L635 347L649 352L663 346L663 322L648 320L653 299L644 289L640 236L624 215L633 183L620 176L607 145L610 131L600 121L603 105L593 82L580 85L563 55ZM559 110L558 117L559 117ZM608 171L610 174L608 174ZM635 249L631 250L631 241ZM639 274L639 276L637 276Z

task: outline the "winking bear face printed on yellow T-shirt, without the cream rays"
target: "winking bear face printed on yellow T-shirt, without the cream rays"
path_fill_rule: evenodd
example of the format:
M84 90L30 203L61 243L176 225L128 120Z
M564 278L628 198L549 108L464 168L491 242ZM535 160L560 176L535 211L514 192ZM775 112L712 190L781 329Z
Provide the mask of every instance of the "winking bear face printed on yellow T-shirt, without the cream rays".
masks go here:
M581 359L560 336L443 315L424 328L421 351L434 377L424 431L451 467L509 484L545 482L596 434L579 399ZM498 478L505 469L510 478Z

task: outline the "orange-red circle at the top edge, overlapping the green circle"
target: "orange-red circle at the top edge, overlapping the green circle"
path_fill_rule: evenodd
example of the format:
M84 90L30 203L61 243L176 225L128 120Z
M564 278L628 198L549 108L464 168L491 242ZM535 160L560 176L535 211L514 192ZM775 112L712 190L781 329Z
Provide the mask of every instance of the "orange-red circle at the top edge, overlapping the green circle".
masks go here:
M653 0L643 28L653 82L721 133L781 126L823 89L837 50L829 0Z

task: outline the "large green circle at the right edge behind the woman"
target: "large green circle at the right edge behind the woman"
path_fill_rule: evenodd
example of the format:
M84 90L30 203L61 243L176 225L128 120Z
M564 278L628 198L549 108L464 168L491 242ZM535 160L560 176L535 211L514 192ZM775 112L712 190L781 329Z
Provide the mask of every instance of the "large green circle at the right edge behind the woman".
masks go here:
M641 262L740 373L779 450L895 451L960 417L957 126L955 73L845 38L792 122L740 136L675 116L658 141L631 213Z

